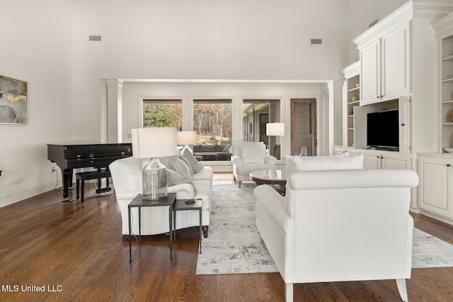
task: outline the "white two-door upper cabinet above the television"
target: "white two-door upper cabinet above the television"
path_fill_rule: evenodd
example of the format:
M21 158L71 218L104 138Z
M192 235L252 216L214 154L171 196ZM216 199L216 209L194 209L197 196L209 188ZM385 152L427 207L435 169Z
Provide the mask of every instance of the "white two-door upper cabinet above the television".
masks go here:
M405 17L354 40L360 52L360 105L411 92L411 23Z

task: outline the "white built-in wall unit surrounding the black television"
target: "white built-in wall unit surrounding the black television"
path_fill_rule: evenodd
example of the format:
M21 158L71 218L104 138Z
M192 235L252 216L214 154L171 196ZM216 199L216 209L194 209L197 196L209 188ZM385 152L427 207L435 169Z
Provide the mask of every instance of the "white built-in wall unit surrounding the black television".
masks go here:
M453 153L444 152L453 149L453 1L428 2L408 1L353 40L360 54L353 146L343 136L334 150L358 151L365 168L415 170L413 211L453 224ZM399 152L364 149L366 113L396 107Z

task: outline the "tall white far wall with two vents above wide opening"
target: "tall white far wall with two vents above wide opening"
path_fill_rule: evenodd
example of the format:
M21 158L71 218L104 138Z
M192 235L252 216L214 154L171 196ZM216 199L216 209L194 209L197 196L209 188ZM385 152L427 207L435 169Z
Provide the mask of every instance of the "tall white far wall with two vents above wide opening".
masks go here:
M348 58L346 0L79 0L73 9L73 110L87 120L100 115L99 79L340 80ZM99 137L94 129L73 121L75 139Z

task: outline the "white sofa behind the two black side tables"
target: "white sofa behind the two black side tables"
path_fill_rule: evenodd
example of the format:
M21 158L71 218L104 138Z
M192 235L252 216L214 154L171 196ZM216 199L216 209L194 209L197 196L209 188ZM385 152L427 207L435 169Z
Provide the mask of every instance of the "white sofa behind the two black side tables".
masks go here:
M129 218L127 205L131 200L142 194L142 163L143 158L122 158L110 164L113 187L120 206L122 234L129 235ZM149 159L148 159L149 161ZM211 216L212 201L212 168L205 168L198 163L199 171L192 175L191 183L180 183L168 186L169 193L176 193L176 199L202 199L202 228L207 237ZM198 211L176 211L176 229L200 226ZM142 235L167 233L168 207L142 208ZM132 233L138 235L138 209L132 209Z

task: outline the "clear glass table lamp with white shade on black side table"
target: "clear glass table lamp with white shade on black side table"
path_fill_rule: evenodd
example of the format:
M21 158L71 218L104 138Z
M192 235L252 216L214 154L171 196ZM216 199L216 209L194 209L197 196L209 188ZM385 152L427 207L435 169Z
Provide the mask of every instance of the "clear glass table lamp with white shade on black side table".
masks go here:
M143 168L143 199L158 200L167 196L167 169L159 157L176 156L177 145L176 128L132 129L132 156L150 158Z

